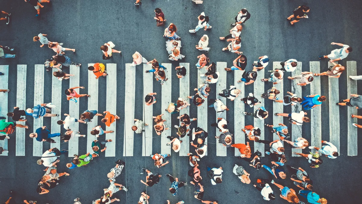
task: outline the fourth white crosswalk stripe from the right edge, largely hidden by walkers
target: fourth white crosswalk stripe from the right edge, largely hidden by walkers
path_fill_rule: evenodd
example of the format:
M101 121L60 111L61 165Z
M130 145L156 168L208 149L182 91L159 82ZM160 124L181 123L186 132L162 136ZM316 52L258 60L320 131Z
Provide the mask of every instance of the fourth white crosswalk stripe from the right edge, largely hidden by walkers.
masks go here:
M296 65L296 69L294 70L294 72L292 72L292 76L298 76L301 73L302 73L302 62L298 62L298 65ZM299 83L299 79L292 80L291 92L296 94L298 97L302 97L302 87L296 85L297 83ZM299 113L300 111L302 111L302 105L300 105L300 103L297 103L296 105L292 106L292 113ZM310 117L310 115L308 115L308 117ZM296 138L302 136L302 126L303 125L292 124L292 132L291 132L292 141L295 141ZM302 153L302 149L292 148L292 152ZM299 155L292 154L292 156L299 156Z

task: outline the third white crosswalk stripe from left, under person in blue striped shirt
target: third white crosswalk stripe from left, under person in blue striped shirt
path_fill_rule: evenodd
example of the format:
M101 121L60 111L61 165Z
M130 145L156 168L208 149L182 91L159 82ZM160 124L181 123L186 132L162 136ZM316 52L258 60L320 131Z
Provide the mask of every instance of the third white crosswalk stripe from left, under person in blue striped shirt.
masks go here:
M44 103L44 65L35 65L34 70L34 106ZM43 126L43 117L34 118L33 132ZM33 156L43 155L43 142L33 139Z

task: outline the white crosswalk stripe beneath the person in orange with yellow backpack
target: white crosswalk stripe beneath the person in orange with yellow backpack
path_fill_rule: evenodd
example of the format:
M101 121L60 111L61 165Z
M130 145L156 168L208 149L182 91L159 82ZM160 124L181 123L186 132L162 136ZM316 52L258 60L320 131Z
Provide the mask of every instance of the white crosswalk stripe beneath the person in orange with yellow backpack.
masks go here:
M94 64L88 64L89 66L93 66ZM93 72L88 72L88 94L90 97L88 98L88 110L98 110L98 79L94 76ZM98 111L98 113L100 113ZM104 118L104 113L102 118ZM93 153L92 150L92 142L94 140L99 140L96 136L90 134L93 127L98 125L98 116L94 116L92 122L88 122L88 131L87 131L87 152Z

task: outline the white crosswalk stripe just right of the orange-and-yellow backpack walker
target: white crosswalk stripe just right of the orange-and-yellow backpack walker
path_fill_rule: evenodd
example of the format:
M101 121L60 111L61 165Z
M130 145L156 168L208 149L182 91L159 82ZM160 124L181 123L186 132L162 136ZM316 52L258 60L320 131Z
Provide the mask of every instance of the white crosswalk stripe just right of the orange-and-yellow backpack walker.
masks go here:
M106 110L111 114L116 115L117 113L117 64L107 64L106 71L108 76L107 79L107 89L106 89ZM104 78L104 77L102 77ZM98 78L98 80L102 80ZM104 81L104 80L102 80ZM92 95L91 95L92 97ZM119 115L118 115L119 116ZM116 142L116 122L111 123L108 127L106 126L106 131L114 131L113 133L107 133L105 139L111 139L112 142L107 143L107 149L105 156L115 156L115 142ZM90 135L88 133L88 135Z

